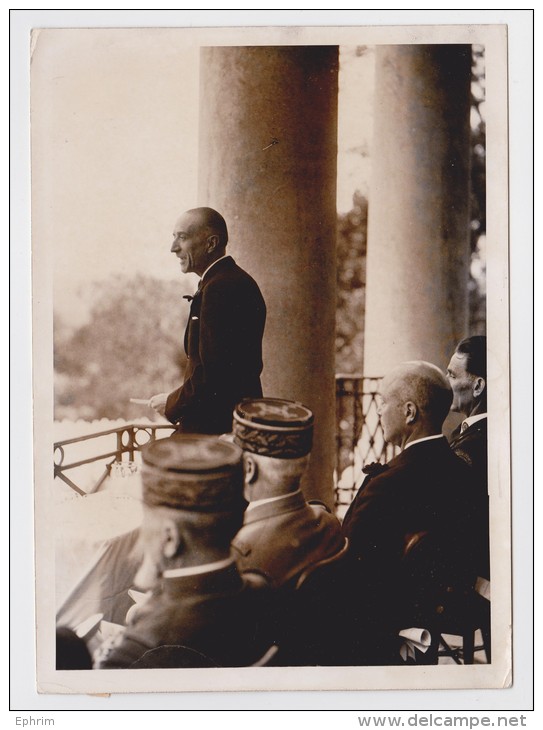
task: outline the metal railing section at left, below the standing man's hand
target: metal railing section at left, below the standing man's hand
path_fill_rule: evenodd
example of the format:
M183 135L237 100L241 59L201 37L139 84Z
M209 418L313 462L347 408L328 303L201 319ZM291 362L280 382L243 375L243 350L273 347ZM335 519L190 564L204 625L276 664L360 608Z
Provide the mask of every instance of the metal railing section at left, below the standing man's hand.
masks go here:
M107 431L85 434L76 438L57 441L54 444L53 462L55 479L58 477L78 494L91 494L97 492L110 474L112 465L117 461L134 461L136 454L142 446L149 441L162 436L168 436L174 430L174 426L168 424L137 424L130 423ZM160 432L163 432L160 433ZM157 435L159 434L160 435ZM99 453L96 450L100 449ZM105 449L105 451L102 451ZM69 452L72 452L74 461L67 461ZM87 452L89 455L81 458ZM105 462L105 463L101 463ZM89 465L94 464L100 467L98 476L94 474ZM90 486L83 489L70 479L66 472L79 470L79 482L85 479Z

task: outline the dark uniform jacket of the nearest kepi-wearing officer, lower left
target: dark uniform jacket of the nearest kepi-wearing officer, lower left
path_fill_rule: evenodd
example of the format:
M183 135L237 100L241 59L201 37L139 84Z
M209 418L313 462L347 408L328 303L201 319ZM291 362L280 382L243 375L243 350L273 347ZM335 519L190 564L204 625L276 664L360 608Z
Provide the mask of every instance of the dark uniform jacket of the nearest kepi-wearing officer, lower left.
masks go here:
M95 668L175 666L175 658L155 653L158 647L177 647L179 666L250 665L268 648L258 638L261 595L243 581L235 565L163 578ZM179 647L185 649L181 654Z

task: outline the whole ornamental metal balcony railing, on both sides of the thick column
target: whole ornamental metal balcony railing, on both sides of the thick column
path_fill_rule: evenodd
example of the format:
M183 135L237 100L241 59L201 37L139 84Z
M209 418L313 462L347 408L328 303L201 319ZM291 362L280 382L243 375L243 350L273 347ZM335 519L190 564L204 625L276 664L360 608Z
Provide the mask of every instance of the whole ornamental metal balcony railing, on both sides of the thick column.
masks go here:
M372 461L385 462L394 455L386 445L377 415L377 394L380 378L362 375L336 375L336 465L335 503L341 510L353 500L360 486L362 467ZM138 424L65 439L54 444L54 475L78 494L100 489L109 476L111 466L126 458L133 461L141 447L149 441L168 436L168 424ZM70 451L72 452L70 455ZM69 459L72 459L71 461ZM90 464L100 466L89 483ZM85 473L87 486L77 484L77 476Z

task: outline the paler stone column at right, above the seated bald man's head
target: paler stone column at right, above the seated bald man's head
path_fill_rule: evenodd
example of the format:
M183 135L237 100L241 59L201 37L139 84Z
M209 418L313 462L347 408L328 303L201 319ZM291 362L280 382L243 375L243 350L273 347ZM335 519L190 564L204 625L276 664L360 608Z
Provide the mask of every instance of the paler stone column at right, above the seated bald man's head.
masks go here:
M365 375L468 334L470 69L468 45L376 49Z

